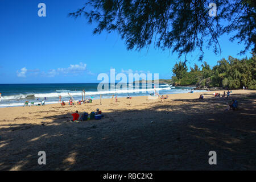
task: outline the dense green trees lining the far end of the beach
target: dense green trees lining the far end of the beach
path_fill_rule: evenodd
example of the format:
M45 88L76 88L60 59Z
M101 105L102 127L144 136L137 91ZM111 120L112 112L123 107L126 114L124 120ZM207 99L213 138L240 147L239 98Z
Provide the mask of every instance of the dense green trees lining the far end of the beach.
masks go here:
M196 85L203 87L223 87L238 89L245 86L248 89L256 89L256 56L255 53L250 59L236 59L232 56L228 60L222 59L212 69L206 61L201 65L194 65L188 72L184 62L179 61L172 68L172 84L175 86Z

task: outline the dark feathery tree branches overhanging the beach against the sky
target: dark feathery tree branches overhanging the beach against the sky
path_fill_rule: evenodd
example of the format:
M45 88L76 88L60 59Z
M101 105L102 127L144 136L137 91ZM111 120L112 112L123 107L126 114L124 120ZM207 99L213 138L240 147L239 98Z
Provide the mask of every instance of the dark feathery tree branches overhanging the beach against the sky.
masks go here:
M215 0L217 16L209 16L205 0L85 0L85 6L70 16L85 15L96 24L94 34L117 31L125 39L127 49L141 50L154 43L172 49L179 56L203 45L221 52L218 38L226 33L245 43L244 53L251 46L255 51L255 1ZM233 34L235 33L235 34Z

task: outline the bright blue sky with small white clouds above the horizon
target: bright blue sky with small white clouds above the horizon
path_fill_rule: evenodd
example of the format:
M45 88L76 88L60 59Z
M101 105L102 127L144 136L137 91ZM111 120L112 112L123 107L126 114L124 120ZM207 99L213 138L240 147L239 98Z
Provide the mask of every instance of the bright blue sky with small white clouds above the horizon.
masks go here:
M46 4L46 17L38 16L38 4ZM94 24L84 17L73 19L68 13L84 5L84 0L1 0L0 1L0 84L100 82L99 73L151 72L171 78L176 53L151 46L148 51L127 51L124 41L113 32L93 35ZM233 57L243 45L219 39L221 55L205 49L204 60L211 66ZM189 57L197 61L198 52ZM250 53L246 53L250 57ZM192 57L191 57L192 56Z

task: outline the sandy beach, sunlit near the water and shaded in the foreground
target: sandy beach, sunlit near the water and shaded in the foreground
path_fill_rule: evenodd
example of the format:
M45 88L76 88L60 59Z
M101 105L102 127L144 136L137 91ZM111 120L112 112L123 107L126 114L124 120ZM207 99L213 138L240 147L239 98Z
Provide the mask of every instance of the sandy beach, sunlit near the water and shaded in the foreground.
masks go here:
M229 99L214 92L223 93L0 108L0 170L255 170L256 91L233 90ZM225 111L231 98L239 110ZM68 122L76 110L97 108L105 118Z

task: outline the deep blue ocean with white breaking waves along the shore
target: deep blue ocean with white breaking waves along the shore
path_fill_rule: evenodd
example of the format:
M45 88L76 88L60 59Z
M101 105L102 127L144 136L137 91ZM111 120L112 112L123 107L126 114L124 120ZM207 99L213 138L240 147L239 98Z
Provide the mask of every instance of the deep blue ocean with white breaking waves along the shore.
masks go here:
M25 101L35 102L35 105L41 103L46 97L46 104L55 104L61 101L68 102L69 94L74 100L82 100L82 90L85 90L85 97L98 99L100 94L102 98L112 98L113 94L118 97L148 96L154 93L154 84L152 86L147 84L139 84L139 88L132 84L127 84L127 89L118 90L104 90L98 91L98 84L0 84L0 93L2 94L0 107L23 106ZM130 86L130 88L129 88ZM110 88L110 84L109 84ZM132 89L132 90L130 90ZM174 87L168 84L159 84L156 91L161 95L174 93L190 92L192 87ZM194 90L194 92L202 92L206 90Z

